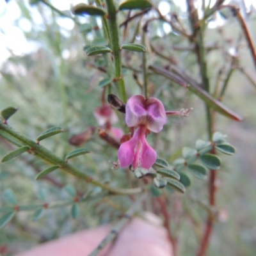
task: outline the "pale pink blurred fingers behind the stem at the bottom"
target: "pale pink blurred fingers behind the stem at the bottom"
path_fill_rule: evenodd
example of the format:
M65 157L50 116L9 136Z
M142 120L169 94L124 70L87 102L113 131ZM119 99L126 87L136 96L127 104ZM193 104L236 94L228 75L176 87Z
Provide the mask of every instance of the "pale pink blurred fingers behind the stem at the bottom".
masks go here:
M86 256L106 237L110 226L77 232L67 237L37 246L15 256ZM134 218L120 232L115 243L99 256L172 256L172 246L166 229L161 225Z

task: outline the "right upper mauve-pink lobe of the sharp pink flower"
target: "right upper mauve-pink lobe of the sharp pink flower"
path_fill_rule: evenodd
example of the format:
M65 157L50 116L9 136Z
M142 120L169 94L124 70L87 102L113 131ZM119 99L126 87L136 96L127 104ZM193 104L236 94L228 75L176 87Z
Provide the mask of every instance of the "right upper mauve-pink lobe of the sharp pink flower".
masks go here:
M148 98L146 100L146 109L148 112L147 129L152 132L160 132L167 122L163 103L156 98Z

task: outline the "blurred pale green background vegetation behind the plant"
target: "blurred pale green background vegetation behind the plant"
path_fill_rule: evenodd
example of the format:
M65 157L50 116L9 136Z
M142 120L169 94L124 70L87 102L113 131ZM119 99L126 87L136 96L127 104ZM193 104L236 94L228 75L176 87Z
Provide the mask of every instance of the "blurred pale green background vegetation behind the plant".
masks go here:
M184 4L179 6L172 1L154 1L154 4L161 6L163 2L170 5L172 12L179 13L186 24L188 17L182 10ZM52 4L58 4L57 8L71 15L68 10L70 1L52 1ZM236 1L234 4L243 6L242 1ZM42 141L42 145L58 156L65 156L74 149L68 143L73 134L97 126L93 109L100 106L101 89L98 84L100 79L106 77L104 72L100 72L100 67L104 68L104 58L88 58L83 51L84 46L93 44L97 31L84 31L74 22L73 16L72 19L60 17L42 3L31 5L28 1L13 0L9 3L1 1L0 6L0 109L8 106L19 108L8 124L34 140L38 134L51 126L63 127L65 132L52 137L51 140ZM250 12L244 12L244 15L256 42L255 6L250 3L248 6ZM241 28L235 17L230 13L225 14L227 19L214 17L210 20L213 23L205 36L205 44L218 45L216 49L207 52L211 84L216 83L220 70L224 70L224 79L227 66L230 64L227 61L232 58L232 51L241 35ZM147 15L146 18L149 18L150 14ZM124 19L125 15L121 13L120 22ZM222 23L217 22L218 19L221 19ZM93 20L90 17L81 17L78 20L84 24L100 24L100 20ZM129 31L130 36L134 34L134 29L131 28ZM188 42L182 40L170 28L166 28L163 22L152 25L148 38L160 51L168 56L174 56L182 63L183 68L188 68L193 76L198 76L195 54L191 51L175 51L175 45L184 46L188 45ZM140 42L139 35L137 41ZM227 52L231 52L231 57L226 56ZM124 74L127 92L131 96L140 93L140 88L132 78L132 70L127 63L132 65L132 68L140 69L140 55L127 54L123 57L126 58ZM218 114L216 116L216 131L227 134L228 142L236 147L237 153L234 157L221 157L223 165L218 171L220 175L217 195L220 214L209 246L208 255L212 256L256 254L256 75L252 56L243 36L237 52L237 61L252 77L250 81L243 72L235 70L223 99L229 108L244 117L243 122L234 122ZM149 54L148 62L164 65L164 61L153 52ZM161 133L161 138L152 137L153 140L159 139L156 147L162 152L161 143L168 143L168 150L171 152L163 154L171 161L179 156L181 147L193 147L197 139L207 138L204 106L200 99L163 77L151 74L149 81L151 94L156 97L160 95L166 109L193 107L191 115L186 119L170 118L169 126L165 133ZM213 89L211 91L213 92ZM118 90L114 89L114 92L118 94ZM120 118L122 120L121 115ZM121 126L124 120L122 122ZM85 164L87 172L97 175L99 179L113 179L116 173L113 170L109 171L111 164L108 161L116 161L116 150L108 147L97 134L86 143L86 147L92 150L92 154L86 155L85 161L77 157L72 163L80 168L84 168ZM1 157L14 148L0 138ZM44 166L47 167L47 164L43 164L42 168L42 164L42 161L36 160L33 156L22 156L1 164L0 194L5 189L12 188L19 204L36 204L41 189L45 189L47 201L68 198L63 189L52 186L49 180L34 180L36 172L43 170ZM117 172L118 179L125 178L124 174ZM83 183L70 175L60 172L51 175L61 184L73 184L77 189L84 189ZM196 218L203 221L205 212L191 200L190 196L195 195L205 200L207 180L192 180L193 184L185 195L170 196L170 205L176 207L177 201L185 202L189 209L196 212ZM115 200L126 204L122 196L117 196ZM109 211L108 207L104 208L104 204L102 209L95 209L94 204L93 200L81 204L81 213L76 220L70 217L70 207L45 211L44 218L37 222L31 221L31 212L19 212L15 220L8 223L0 232L0 255L1 250L3 255L12 255L70 232L106 223L118 215L117 210ZM6 204L0 199L0 207L1 205ZM195 225L188 216L189 209L180 212L184 216L180 227L180 255L195 254L198 243Z

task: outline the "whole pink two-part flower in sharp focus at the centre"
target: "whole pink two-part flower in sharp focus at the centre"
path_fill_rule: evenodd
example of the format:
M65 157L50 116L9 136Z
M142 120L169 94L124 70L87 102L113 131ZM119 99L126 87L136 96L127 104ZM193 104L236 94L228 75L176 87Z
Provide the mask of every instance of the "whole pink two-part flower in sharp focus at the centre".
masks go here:
M145 99L142 95L132 96L125 106L125 122L134 128L131 140L122 143L118 150L120 167L132 164L134 170L138 167L149 169L157 158L154 148L148 145L148 131L160 132L167 122L163 103L156 98Z

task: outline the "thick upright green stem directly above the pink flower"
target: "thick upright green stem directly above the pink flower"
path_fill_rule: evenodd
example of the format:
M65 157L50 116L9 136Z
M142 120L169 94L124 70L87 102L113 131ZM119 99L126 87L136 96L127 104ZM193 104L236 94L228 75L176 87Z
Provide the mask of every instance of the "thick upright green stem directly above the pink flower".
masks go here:
M106 0L106 5L108 9L108 28L110 35L110 44L111 49L113 51L113 59L115 66L115 76L120 88L120 96L122 101L127 102L127 95L125 92L125 84L124 78L122 77L122 59L121 59L121 51L119 44L119 33L118 33L118 25L116 20L116 9L113 3L113 0Z

